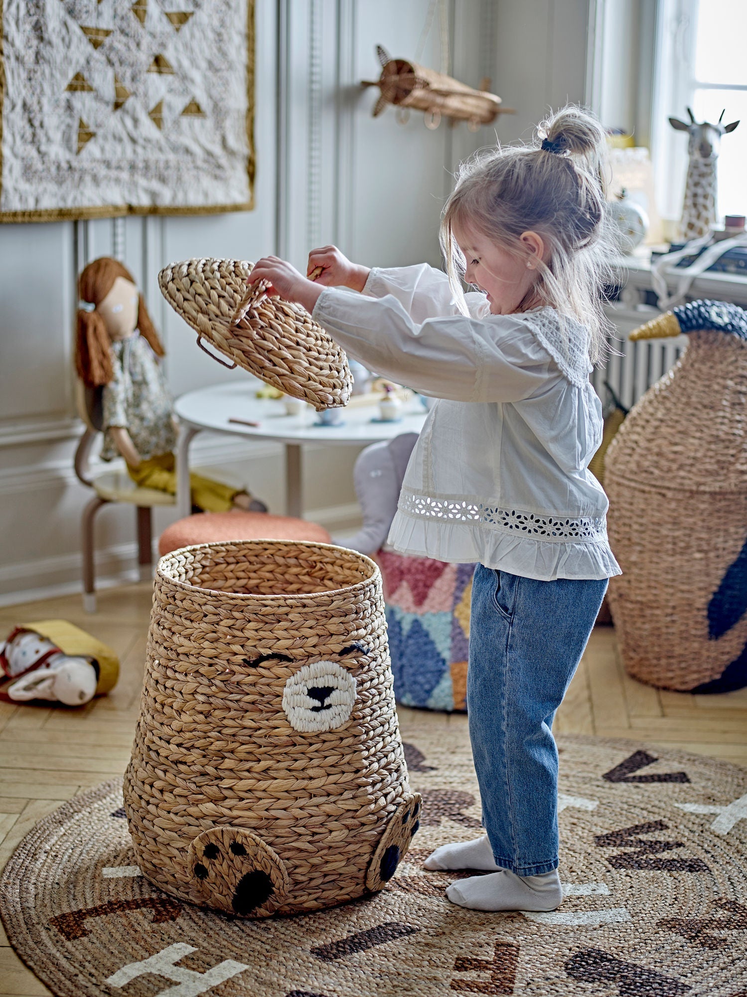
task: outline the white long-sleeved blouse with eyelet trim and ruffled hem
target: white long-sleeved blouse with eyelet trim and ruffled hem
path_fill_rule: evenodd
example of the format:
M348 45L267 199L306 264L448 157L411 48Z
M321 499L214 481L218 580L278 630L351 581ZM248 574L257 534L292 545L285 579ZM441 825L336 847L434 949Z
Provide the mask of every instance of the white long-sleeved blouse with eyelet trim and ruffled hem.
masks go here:
M552 581L621 574L588 465L602 442L588 332L553 308L459 313L423 263L326 288L313 317L366 367L438 399L415 444L387 542L404 553Z

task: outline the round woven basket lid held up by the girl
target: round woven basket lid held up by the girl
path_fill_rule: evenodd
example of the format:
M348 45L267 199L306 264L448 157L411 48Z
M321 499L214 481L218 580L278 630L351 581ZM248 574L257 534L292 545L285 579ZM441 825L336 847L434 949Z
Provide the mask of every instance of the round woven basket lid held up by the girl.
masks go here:
M301 305L247 293L253 263L187 259L158 274L163 297L220 353L266 384L309 402L319 412L348 404L353 379L343 349ZM218 357L218 363L224 363Z

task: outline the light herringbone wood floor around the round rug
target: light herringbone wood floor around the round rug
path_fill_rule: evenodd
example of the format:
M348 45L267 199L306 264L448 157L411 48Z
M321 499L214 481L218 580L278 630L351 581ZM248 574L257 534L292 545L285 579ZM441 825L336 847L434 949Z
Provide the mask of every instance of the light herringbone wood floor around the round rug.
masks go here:
M150 585L100 593L87 616L79 596L0 609L0 636L14 625L65 618L116 648L117 688L79 710L0 703L0 866L24 834L78 790L124 772L137 715ZM409 715L400 710L406 736ZM466 725L461 715L424 715L429 724ZM724 696L661 692L628 678L612 627L598 627L556 720L556 731L629 738L712 755L747 767L747 689ZM467 736L466 727L464 730ZM0 995L47 994L0 930Z

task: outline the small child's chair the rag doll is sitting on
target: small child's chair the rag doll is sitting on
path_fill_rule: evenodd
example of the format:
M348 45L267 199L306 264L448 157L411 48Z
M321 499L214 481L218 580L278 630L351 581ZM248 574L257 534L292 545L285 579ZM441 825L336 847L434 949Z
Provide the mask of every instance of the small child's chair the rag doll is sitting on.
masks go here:
M94 563L94 520L103 505L111 502L128 502L136 509L137 563L140 578L150 577L152 569L152 524L153 505L175 505L176 498L155 489L141 489L124 470L103 471L93 475L89 467L91 449L97 437L103 432L102 389L87 388L78 382L78 412L86 425L76 450L75 472L78 480L96 495L86 505L81 519L81 541L83 551L83 607L88 613L96 612L96 579Z

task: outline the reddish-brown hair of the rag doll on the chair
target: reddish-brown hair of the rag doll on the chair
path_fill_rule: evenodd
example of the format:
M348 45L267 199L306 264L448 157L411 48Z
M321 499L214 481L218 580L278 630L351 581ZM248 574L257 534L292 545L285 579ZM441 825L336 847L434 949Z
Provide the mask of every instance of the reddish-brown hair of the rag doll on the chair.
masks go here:
M112 290L118 277L130 284L134 278L127 268L112 256L100 256L82 271L78 278L78 294L82 301L99 305ZM158 357L163 346L147 313L142 295L137 298L137 329ZM98 311L78 310L76 335L76 370L88 388L100 388L114 377L109 334Z

